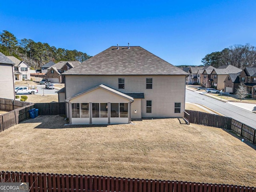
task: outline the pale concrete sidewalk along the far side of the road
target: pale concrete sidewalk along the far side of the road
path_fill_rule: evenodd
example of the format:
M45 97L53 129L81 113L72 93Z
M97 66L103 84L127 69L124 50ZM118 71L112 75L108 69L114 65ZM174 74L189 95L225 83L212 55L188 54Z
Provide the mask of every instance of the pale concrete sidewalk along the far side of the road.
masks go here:
M202 94L202 95L206 95L208 97L212 97L214 99L217 99L217 100L220 100L220 98L218 97L215 97L215 96L212 96L212 95L208 95L207 92L202 92L202 91L196 91L194 89L191 89L191 88L187 88L186 89L188 90L191 90L191 91L194 91L194 92L197 92L199 94ZM228 100L220 100L220 101L223 101L223 102L226 102L227 104L230 104L230 105L233 105L233 106L237 106L239 108L242 108L244 110L248 110L250 112L256 112L256 105L255 104L250 104L250 103L240 103L240 102L231 102L231 101L228 101Z

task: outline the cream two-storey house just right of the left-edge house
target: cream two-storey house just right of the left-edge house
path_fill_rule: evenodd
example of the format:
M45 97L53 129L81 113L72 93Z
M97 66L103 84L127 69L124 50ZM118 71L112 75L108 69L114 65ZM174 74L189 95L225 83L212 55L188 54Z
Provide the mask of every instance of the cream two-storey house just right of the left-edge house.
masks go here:
M24 61L18 60L14 56L7 56L12 62L14 62L14 80L30 80L30 66Z

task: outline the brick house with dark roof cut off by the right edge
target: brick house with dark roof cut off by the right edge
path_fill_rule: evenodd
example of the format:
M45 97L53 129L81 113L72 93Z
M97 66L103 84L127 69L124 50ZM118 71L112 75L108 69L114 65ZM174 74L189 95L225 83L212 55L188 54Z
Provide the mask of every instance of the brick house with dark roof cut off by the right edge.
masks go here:
M256 98L256 67L246 67L240 73L240 82L246 86L252 98Z

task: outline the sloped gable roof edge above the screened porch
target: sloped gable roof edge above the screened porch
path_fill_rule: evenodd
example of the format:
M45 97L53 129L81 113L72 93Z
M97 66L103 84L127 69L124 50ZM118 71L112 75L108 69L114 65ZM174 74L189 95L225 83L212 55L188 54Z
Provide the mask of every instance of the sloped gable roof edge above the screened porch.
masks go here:
M109 91L109 92L111 92L111 93L113 93L113 94L116 94L116 95L120 96L120 97L126 98L126 99L130 100L130 102L133 102L133 101L134 101L134 98L131 97L131 96L129 96L128 94L124 94L124 93L122 93L122 92L120 92L120 91L118 91L118 90L112 89L112 88L110 88L110 87L108 87L108 86L106 86L106 85L101 84L101 85L96 86L96 87L94 87L94 88L92 88L92 89L89 89L89 90L87 90L87 91L84 91L84 92L82 92L82 93L80 93L80 94L77 94L77 95L75 95L75 96L72 96L72 97L70 97L70 98L67 98L67 99L65 100L65 102L69 102L70 100L72 100L72 99L74 99L74 98L77 98L77 97L79 97L79 96L82 96L82 95L84 95L84 94L87 94L87 93L89 93L89 92L92 92L93 90L96 90L96 89L98 89L98 88L102 88L102 89L107 90L107 91ZM144 94L143 94L143 96L144 96Z

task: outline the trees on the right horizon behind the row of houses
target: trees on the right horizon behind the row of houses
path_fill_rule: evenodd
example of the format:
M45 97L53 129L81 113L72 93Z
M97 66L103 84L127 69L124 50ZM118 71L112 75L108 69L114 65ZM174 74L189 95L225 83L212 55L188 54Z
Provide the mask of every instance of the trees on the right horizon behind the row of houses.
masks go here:
M202 58L202 63L216 68L229 64L240 69L256 66L256 47L250 44L233 45L222 51L207 54Z

